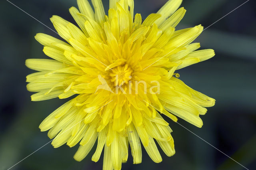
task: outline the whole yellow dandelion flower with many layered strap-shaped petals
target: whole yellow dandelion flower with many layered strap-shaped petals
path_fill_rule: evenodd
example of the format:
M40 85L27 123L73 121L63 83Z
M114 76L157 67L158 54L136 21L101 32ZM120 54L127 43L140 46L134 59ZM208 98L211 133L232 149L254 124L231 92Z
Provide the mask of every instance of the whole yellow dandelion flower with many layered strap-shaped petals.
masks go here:
M52 16L66 42L37 34L36 40L52 59L26 60L27 67L38 71L27 76L28 91L38 92L32 101L75 96L39 128L49 130L55 148L79 142L77 161L98 139L92 160L97 162L104 148L104 170L120 170L129 146L133 163L141 163L141 142L154 162L162 161L155 141L172 156L172 129L161 115L202 127L199 115L215 104L174 73L214 56L212 49L197 50L200 44L191 43L203 27L175 30L186 12L178 9L182 0L169 0L143 22L140 14L134 16L133 0L110 0L108 16L101 0L92 0L94 10L87 0L77 2L79 10L69 11L80 28Z

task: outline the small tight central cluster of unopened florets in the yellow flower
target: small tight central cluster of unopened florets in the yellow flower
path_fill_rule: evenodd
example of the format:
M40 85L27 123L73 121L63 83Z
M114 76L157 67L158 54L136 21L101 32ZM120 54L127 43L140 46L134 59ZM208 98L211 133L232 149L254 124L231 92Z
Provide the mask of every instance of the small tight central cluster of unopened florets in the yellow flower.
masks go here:
M132 79L132 69L128 67L128 65L122 65L114 68L112 73L110 73L111 81L114 82L115 86L123 85L124 83L128 83L130 79Z

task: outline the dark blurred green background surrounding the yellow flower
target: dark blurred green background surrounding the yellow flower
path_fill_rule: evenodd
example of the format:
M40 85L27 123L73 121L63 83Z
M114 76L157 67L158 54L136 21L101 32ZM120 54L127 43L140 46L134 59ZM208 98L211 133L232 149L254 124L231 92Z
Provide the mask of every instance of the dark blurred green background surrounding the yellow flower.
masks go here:
M76 0L10 0L40 22L54 29L49 18L58 15L73 22L68 8L77 7ZM145 19L167 0L135 0L135 12ZM108 0L103 0L108 9ZM245 0L184 0L187 10L178 29L202 24L205 28ZM6 0L0 1L0 169L6 170L47 142L47 132L38 126L64 100L31 102L26 91L28 58L46 58L42 45L34 39L42 32L58 37ZM195 42L201 49L212 48L216 56L208 61L179 70L180 79L190 87L216 99L216 105L201 116L202 128L179 119L179 123L228 154L249 169L256 168L256 2L250 0L210 28ZM59 37L58 37L59 38ZM163 162L152 162L143 149L142 164L133 165L132 155L122 170L240 170L242 166L186 130L166 119L172 128L176 154L163 152ZM13 170L100 170L91 161L92 152L76 162L78 146L53 148L49 143Z

